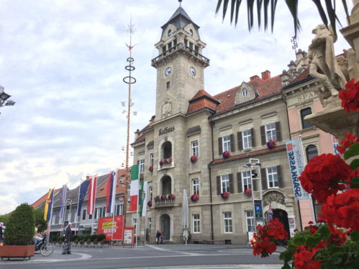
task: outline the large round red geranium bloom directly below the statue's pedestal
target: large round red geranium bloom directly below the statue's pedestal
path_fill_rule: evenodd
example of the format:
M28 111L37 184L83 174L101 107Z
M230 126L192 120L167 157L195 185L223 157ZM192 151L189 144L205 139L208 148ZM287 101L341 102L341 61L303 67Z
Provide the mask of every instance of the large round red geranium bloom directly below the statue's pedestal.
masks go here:
M341 182L351 179L352 175L350 166L340 156L329 153L313 157L299 180L304 190L312 193L318 203L325 203L330 195L345 190L346 184Z

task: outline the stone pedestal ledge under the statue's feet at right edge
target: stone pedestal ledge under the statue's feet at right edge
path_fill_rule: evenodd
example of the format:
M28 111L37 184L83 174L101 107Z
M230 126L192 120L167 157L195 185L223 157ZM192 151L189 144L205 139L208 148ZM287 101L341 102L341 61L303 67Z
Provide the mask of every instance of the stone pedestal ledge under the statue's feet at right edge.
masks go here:
M359 135L359 111L351 111L348 114L340 106L340 103L339 106L310 114L304 119L324 132L335 136L339 143L345 139L345 134L348 132Z

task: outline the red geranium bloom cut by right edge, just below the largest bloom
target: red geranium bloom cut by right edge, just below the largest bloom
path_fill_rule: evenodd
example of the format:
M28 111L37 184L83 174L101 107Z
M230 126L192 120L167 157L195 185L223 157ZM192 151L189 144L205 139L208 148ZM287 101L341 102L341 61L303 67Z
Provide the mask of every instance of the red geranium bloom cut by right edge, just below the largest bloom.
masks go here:
M359 231L359 189L349 189L339 195L328 197L322 205L320 217L327 219L333 232L333 223L338 227Z

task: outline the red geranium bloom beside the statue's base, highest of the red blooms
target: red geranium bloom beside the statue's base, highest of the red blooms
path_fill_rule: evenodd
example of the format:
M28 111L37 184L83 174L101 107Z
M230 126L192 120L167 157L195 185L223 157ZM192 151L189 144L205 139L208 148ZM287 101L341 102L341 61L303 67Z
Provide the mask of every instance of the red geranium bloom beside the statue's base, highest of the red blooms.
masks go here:
M340 90L339 98L342 99L342 108L349 113L350 110L359 111L359 83L354 83L355 80L351 79L345 88L347 90Z

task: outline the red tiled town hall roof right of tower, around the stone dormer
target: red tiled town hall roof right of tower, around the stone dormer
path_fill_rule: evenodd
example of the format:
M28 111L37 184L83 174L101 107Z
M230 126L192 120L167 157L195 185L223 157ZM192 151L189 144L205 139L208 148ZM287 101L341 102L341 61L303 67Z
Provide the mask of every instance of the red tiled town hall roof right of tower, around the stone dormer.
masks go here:
M258 101L260 99L264 99L266 97L272 96L274 94L280 94L280 90L282 88L282 79L280 76L272 77L271 79L260 79L260 77L255 77L252 80L247 82L249 85L253 86L255 90L258 90L260 96L254 100L249 101L249 103L253 103L254 101ZM229 111L235 107L242 106L243 104L235 106L235 94L240 86L235 88L231 88L230 90L226 90L225 92L221 92L220 94L215 95L213 98L215 100L221 100L220 105L217 107L217 113L223 113ZM248 103L246 103L248 104Z

